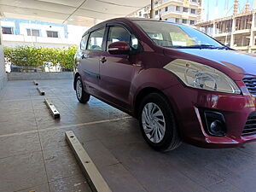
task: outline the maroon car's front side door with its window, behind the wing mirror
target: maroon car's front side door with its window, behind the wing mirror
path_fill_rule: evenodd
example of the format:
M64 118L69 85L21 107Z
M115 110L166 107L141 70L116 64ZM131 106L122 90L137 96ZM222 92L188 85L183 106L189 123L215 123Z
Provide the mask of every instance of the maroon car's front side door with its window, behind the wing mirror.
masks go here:
M131 41L137 42L137 38L133 38L131 32L125 26L108 25L107 30L107 48L109 44L117 41L125 41L128 44L131 44ZM136 44L133 46L137 48ZM136 68L133 63L136 63L136 55L110 55L107 49L101 55L100 84L104 97L107 97L109 102L113 102L122 108L131 105L129 96L131 79Z

